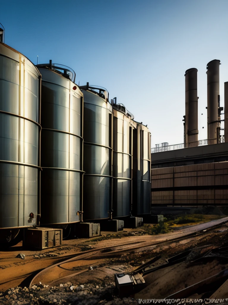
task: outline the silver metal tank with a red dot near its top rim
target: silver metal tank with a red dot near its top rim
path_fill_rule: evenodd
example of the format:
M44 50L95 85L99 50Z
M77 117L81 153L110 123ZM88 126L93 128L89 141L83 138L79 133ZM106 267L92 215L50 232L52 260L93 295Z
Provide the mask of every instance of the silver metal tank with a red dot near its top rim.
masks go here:
M38 67L42 74L40 222L73 223L80 221L82 208L83 95L66 67Z

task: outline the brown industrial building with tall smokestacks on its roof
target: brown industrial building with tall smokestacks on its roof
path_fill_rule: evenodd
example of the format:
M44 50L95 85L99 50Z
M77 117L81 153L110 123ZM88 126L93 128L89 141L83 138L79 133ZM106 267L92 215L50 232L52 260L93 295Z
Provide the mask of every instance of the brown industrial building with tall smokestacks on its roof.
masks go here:
M197 69L185 72L184 143L162 143L151 149L152 209L228 205L228 82L221 113L219 65L216 59L207 64L206 140L198 139ZM225 125L224 135L221 121Z

